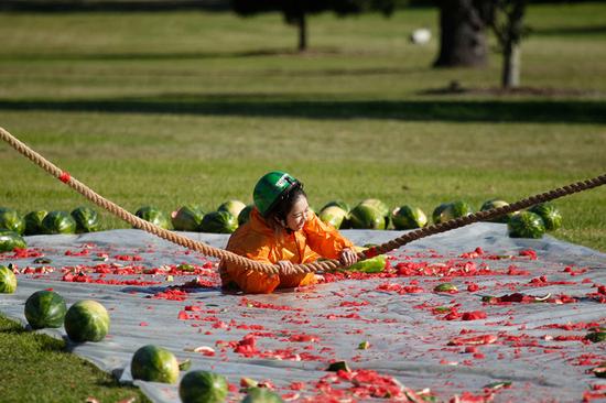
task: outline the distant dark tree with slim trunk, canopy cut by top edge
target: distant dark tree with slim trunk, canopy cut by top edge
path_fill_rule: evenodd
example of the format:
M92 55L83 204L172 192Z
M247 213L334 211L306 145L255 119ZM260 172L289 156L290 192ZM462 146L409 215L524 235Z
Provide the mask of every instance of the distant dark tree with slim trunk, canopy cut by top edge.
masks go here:
M366 11L391 15L396 0L232 0L231 7L240 15L279 11L284 21L299 29L299 51L307 48L307 15L333 11L339 17Z

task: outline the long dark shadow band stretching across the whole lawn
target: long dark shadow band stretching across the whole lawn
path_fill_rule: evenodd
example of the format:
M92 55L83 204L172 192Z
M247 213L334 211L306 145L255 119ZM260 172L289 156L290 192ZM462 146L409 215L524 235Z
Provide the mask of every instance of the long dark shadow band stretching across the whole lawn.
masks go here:
M325 100L267 94L180 95L109 99L0 99L0 110L167 113L293 119L605 123L606 102L591 100Z

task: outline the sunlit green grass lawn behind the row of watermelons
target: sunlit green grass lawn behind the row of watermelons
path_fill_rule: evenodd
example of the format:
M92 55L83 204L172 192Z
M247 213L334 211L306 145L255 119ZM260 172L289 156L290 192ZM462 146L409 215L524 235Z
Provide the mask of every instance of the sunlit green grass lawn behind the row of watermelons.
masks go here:
M275 168L301 178L315 207L477 208L606 172L605 13L529 9L522 85L539 95L493 91L498 54L483 69L432 69L435 40L414 46L408 34L435 37L433 9L314 17L305 54L278 14L0 13L0 126L131 211L249 203ZM473 90L441 94L453 80ZM0 206L86 204L0 145ZM606 251L606 189L556 204L555 237ZM104 225L126 226L108 214Z

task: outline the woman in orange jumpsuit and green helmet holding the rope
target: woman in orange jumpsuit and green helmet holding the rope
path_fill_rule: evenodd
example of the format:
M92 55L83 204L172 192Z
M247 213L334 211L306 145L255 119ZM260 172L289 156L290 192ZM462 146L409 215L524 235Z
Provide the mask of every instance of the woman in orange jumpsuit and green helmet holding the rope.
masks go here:
M253 200L249 221L231 235L227 250L278 264L280 271L266 274L221 261L224 288L269 294L316 282L314 273L297 274L293 264L318 258L338 259L345 265L357 261L354 244L310 211L303 185L291 175L278 171L263 175L255 186Z

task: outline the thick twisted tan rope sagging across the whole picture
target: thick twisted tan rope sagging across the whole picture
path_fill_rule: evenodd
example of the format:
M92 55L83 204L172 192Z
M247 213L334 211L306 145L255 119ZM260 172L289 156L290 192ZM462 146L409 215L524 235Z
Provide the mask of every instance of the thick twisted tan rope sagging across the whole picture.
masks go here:
M19 153L30 159L34 164L36 164L37 166L42 167L44 171L46 171L54 177L62 181L63 183L65 183L66 185L68 185L79 194L82 194L84 197L86 197L90 202L105 208L106 210L116 215L122 220L127 221L134 228L142 229L144 231L153 233L156 237L160 237L170 242L176 243L181 247L198 251L205 255L223 259L227 263L237 264L247 270L255 270L267 274L277 274L279 272L279 266L277 264L271 265L271 264L261 263L261 262L241 257L239 254L229 252L224 249L213 248L204 242L194 241L187 237L183 237L178 233L169 231L149 221L145 221L137 217L136 215L125 210L117 204L95 193L85 184L72 177L67 172L62 171L56 165L54 165L53 163L44 159L42 155L40 155L39 153L30 149L28 145L19 141L15 137L13 137L11 133L2 129L1 127L0 127L0 138L2 138L2 140L9 143ZM415 241L424 237L430 237L435 233L445 232L455 228L468 226L469 224L473 224L473 222L486 221L509 213L528 208L539 203L550 202L563 196L572 195L574 193L602 186L604 184L606 184L606 175L600 175L592 179L577 182L567 186L560 187L554 190L531 196L529 198L512 203L504 207L493 208L486 211L478 211L466 217L459 217L459 218L448 220L446 222L429 226L425 228L420 228L420 229L407 232L402 237L396 238L389 242L367 249L364 252L359 252L358 258L359 259L372 258L377 254L389 252L390 250L398 249L407 243L410 243L412 241ZM338 260L332 259L332 260L316 261L316 262L305 263L305 264L295 264L294 270L296 273L303 274L303 273L312 273L317 271L335 270L340 266L342 264Z

